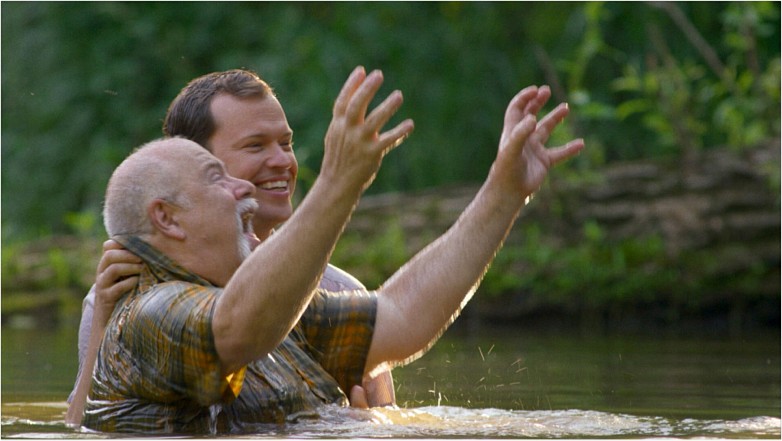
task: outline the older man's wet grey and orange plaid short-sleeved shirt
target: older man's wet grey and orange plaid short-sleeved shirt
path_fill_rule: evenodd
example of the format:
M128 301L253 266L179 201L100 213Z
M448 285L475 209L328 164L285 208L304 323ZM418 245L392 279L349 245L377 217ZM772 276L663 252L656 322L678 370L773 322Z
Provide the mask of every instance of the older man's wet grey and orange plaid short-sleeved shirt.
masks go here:
M347 406L361 384L377 299L320 289L271 353L225 378L212 335L222 289L144 241L120 238L145 262L101 344L83 425L104 432L246 433L259 424Z

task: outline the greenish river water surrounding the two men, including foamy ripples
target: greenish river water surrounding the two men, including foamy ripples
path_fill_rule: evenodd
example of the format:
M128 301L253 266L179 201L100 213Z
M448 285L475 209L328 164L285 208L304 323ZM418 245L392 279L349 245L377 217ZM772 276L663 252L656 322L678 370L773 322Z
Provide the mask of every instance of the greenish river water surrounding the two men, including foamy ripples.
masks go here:
M75 327L3 328L3 438L106 438L63 424ZM453 329L394 376L398 408L324 407L232 437L781 436L779 330L726 339Z

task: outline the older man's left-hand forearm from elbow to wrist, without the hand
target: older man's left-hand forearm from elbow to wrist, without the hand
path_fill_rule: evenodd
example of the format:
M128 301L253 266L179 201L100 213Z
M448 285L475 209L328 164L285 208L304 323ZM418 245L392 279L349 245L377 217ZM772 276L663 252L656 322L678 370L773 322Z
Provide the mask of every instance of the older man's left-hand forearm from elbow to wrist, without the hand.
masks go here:
M273 350L309 304L359 191L319 178L283 228L242 264L215 306L224 371Z

